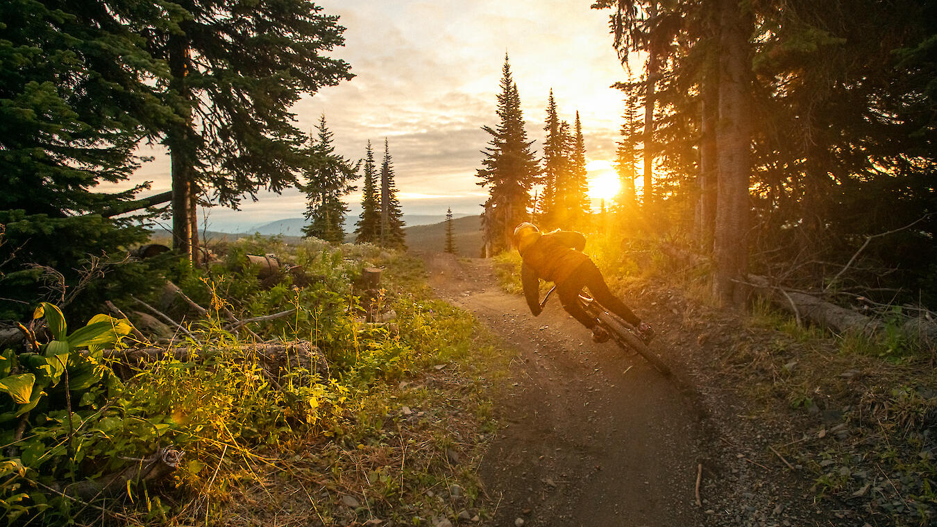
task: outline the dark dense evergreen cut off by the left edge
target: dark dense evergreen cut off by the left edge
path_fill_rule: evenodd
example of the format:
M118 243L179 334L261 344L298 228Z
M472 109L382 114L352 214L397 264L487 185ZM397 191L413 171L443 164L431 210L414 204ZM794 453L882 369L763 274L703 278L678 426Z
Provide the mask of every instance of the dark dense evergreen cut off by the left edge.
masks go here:
M93 191L140 166L133 150L144 127L169 113L153 87L165 68L134 35L142 19L159 23L156 7L0 3L0 318L61 301L27 264L50 266L71 286L89 255L146 239L132 219L106 217L129 209L140 186Z

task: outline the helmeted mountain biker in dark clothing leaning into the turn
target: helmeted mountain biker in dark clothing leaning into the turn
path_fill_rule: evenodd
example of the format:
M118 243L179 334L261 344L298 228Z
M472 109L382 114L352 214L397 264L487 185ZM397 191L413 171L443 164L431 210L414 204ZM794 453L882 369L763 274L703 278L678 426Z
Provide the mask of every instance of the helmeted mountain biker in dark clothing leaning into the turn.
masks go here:
M559 301L563 309L573 315L583 326L592 330L592 340L597 343L609 339L608 331L589 316L579 303L579 292L588 287L589 293L606 309L620 316L637 329L638 337L646 344L654 336L654 330L638 318L621 300L618 300L602 278L602 272L582 251L586 237L581 232L555 230L543 233L531 223L522 223L514 228L513 245L524 263L521 265L521 284L530 313L540 315L540 280L557 285Z

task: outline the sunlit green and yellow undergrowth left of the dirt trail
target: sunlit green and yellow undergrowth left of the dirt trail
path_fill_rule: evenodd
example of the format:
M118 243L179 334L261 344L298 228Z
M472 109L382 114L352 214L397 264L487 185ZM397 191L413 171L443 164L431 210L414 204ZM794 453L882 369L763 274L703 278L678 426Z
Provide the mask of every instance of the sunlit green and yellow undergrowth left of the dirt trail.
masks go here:
M240 263L245 254L270 252L302 273L262 281ZM358 311L355 280L373 266L384 269L379 303L389 323L367 324ZM493 431L489 385L503 365L470 315L428 298L418 260L370 245L290 246L255 237L228 247L209 271L179 265L167 274L211 306L209 317L187 328L190 337L167 344L170 353L129 369L121 361L127 338L113 351L93 349L93 382L50 385L45 403L7 421L0 431L7 523L484 517L473 467ZM253 336L230 329L225 316L289 309L295 312L251 324ZM185 306L174 302L171 310L182 315ZM308 342L312 356L288 358L289 368L272 371L256 351L257 337ZM88 352L71 353L75 379L77 360ZM15 365L0 382L24 368ZM19 404L5 391L0 403ZM170 478L103 485L167 451L181 456Z

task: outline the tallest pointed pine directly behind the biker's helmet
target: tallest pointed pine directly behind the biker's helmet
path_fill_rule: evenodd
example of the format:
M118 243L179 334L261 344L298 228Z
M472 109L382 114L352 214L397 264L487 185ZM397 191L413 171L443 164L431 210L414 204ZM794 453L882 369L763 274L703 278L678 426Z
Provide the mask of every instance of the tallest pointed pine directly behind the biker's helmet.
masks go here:
M501 93L498 94L498 128L483 126L492 139L483 152L483 168L477 175L479 185L488 187L484 203L484 243L486 255L493 255L510 245L513 228L527 221L530 187L536 182L538 163L530 151L524 129L520 95L511 75L507 54L502 67Z

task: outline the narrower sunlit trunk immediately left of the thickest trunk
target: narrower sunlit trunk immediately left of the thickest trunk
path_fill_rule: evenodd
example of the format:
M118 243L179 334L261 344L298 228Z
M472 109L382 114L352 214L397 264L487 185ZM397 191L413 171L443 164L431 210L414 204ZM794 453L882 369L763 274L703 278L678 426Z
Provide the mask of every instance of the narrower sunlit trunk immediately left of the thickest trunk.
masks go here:
M713 229L716 224L716 193L719 173L719 150L716 143L716 122L719 119L719 77L717 65L707 61L703 74L702 120L700 124L700 168L698 217L696 240L708 253L712 250Z

